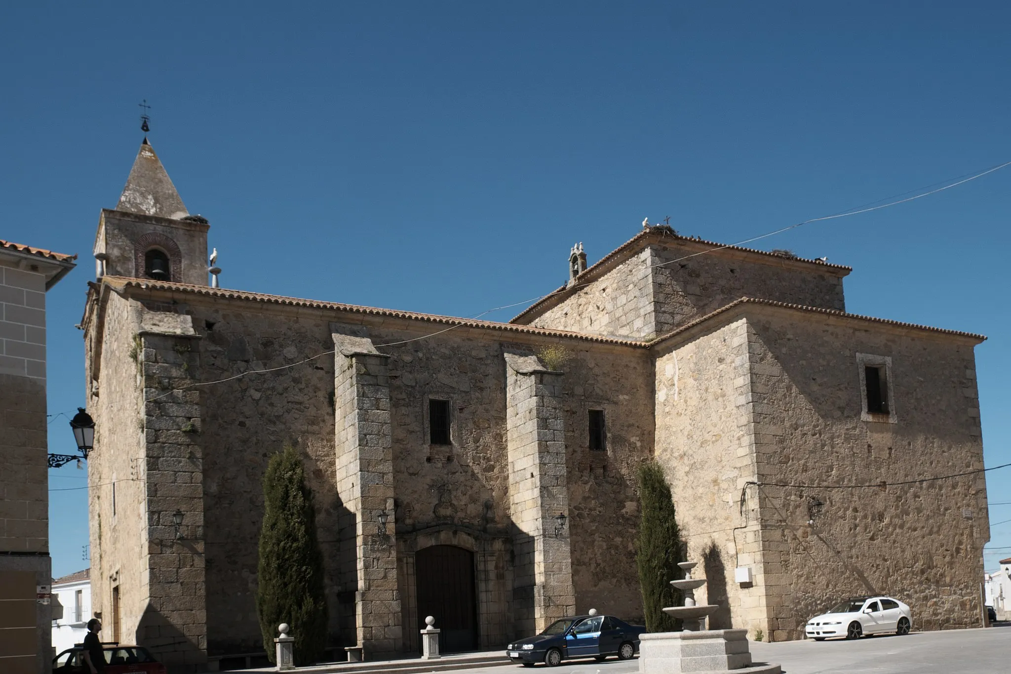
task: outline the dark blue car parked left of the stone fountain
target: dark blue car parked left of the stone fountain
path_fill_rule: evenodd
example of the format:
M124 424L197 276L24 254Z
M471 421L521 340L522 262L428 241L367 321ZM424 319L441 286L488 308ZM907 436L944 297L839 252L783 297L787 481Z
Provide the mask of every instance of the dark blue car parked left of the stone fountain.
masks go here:
M609 655L631 660L639 651L639 635L646 628L629 624L614 615L575 615L552 622L547 630L510 644L505 655L524 667L543 662L557 667L562 660L596 658Z

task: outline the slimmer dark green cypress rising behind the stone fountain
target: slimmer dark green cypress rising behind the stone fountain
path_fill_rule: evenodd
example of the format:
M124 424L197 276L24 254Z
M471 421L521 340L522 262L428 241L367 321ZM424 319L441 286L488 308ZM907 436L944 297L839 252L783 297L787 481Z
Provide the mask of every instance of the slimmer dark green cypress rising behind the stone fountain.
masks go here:
M639 588L649 632L674 632L681 621L667 615L662 608L680 605L682 593L670 585L683 577L677 563L680 558L680 535L674 518L674 503L663 470L655 462L639 467L639 498L642 520L636 564L639 567Z

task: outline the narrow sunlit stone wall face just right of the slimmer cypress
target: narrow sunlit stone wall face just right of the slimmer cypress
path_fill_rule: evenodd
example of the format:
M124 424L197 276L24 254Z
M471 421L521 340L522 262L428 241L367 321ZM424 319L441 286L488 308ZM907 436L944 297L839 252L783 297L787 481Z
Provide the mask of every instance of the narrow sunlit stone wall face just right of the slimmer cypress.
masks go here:
M721 606L710 629L769 634L757 521L739 496L755 475L746 321L719 325L656 359L656 459L670 484L687 559L699 563L700 603ZM734 568L750 566L750 586ZM700 573L701 572L701 573Z

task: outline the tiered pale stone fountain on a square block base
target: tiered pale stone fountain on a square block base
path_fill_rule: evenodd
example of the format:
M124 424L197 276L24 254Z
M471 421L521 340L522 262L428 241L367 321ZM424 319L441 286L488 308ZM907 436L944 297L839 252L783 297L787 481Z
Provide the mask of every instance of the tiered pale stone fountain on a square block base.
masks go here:
M779 665L751 662L747 630L705 630L706 617L718 604L698 605L695 590L706 584L705 578L692 578L698 562L681 562L684 580L670 584L684 592L683 606L668 606L664 613L681 619L683 632L659 632L640 637L639 672L641 674L780 674Z

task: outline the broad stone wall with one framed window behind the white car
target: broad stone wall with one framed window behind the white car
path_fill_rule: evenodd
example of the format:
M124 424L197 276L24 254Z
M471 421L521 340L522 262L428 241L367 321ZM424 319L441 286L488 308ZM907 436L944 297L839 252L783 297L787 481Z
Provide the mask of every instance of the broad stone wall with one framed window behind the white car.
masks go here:
M983 468L973 345L769 312L748 319L760 481L877 484ZM861 420L856 354L892 359L894 422ZM913 628L980 627L982 474L864 489L750 487L776 641L849 595L893 594ZM813 520L813 523L809 523Z

